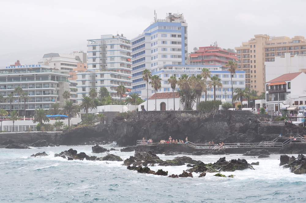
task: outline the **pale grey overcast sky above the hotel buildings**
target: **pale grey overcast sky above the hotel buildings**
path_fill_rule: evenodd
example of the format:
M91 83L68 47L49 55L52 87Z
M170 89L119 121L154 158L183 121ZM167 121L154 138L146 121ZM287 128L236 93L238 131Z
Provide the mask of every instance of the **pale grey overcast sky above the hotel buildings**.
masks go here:
M154 19L183 13L188 51L217 41L234 49L254 35L305 36L306 1L296 0L0 0L0 67L35 64L47 53L86 52L87 39L132 39Z

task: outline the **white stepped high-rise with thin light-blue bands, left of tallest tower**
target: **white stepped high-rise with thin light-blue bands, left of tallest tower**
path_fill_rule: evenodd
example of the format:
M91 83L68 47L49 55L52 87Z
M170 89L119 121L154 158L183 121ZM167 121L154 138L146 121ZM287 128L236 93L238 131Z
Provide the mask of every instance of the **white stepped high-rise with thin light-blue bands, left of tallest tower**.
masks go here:
M101 35L101 39L88 39L88 71L78 72L78 99L88 96L90 89L99 92L106 87L114 99L120 99L117 87L124 85L131 92L131 44L122 34Z

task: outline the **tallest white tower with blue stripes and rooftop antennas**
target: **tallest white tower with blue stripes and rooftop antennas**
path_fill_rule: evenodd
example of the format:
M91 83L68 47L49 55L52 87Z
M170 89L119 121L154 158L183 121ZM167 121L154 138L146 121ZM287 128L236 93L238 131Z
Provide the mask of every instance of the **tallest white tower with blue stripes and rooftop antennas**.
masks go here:
M188 63L187 26L182 14L169 13L165 19L155 16L151 25L131 40L133 93L147 97L147 84L142 79L144 69L156 74L164 65ZM151 85L151 93L150 89Z

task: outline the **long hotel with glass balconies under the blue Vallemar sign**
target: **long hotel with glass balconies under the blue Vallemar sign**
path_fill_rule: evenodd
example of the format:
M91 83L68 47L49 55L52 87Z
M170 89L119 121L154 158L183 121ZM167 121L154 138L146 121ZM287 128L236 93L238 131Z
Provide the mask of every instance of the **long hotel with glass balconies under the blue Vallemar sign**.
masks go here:
M0 68L0 94L6 101L1 101L0 108L8 112L10 109L20 109L20 116L33 116L37 108L49 109L54 103L62 105L64 101L62 94L65 90L69 90L68 78L69 74L46 65L2 67ZM14 89L18 86L30 97L25 102L26 115L24 115L24 100L19 97L18 103L17 93L14 93ZM15 98L12 102L7 99L8 94L14 94Z

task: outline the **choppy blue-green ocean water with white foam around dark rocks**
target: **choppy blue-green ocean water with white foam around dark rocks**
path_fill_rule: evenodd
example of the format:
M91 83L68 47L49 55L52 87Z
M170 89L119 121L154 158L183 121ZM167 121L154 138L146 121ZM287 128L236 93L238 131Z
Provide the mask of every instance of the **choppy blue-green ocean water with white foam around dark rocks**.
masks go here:
M107 149L115 145L103 146ZM259 161L255 170L221 172L234 178L207 173L198 178L168 178L126 169L123 161L68 161L55 153L73 148L89 156L91 146L58 146L0 149L0 202L306 202L306 175L279 166L279 154L258 159L241 154L192 156L214 163L220 157ZM45 151L47 157L30 157ZM123 160L134 152L110 151ZM103 157L106 153L94 154ZM297 157L297 154L293 154ZM158 154L162 160L177 156ZM188 155L189 156L189 155ZM289 155L291 156L291 155ZM155 166L168 175L181 174L187 166Z

